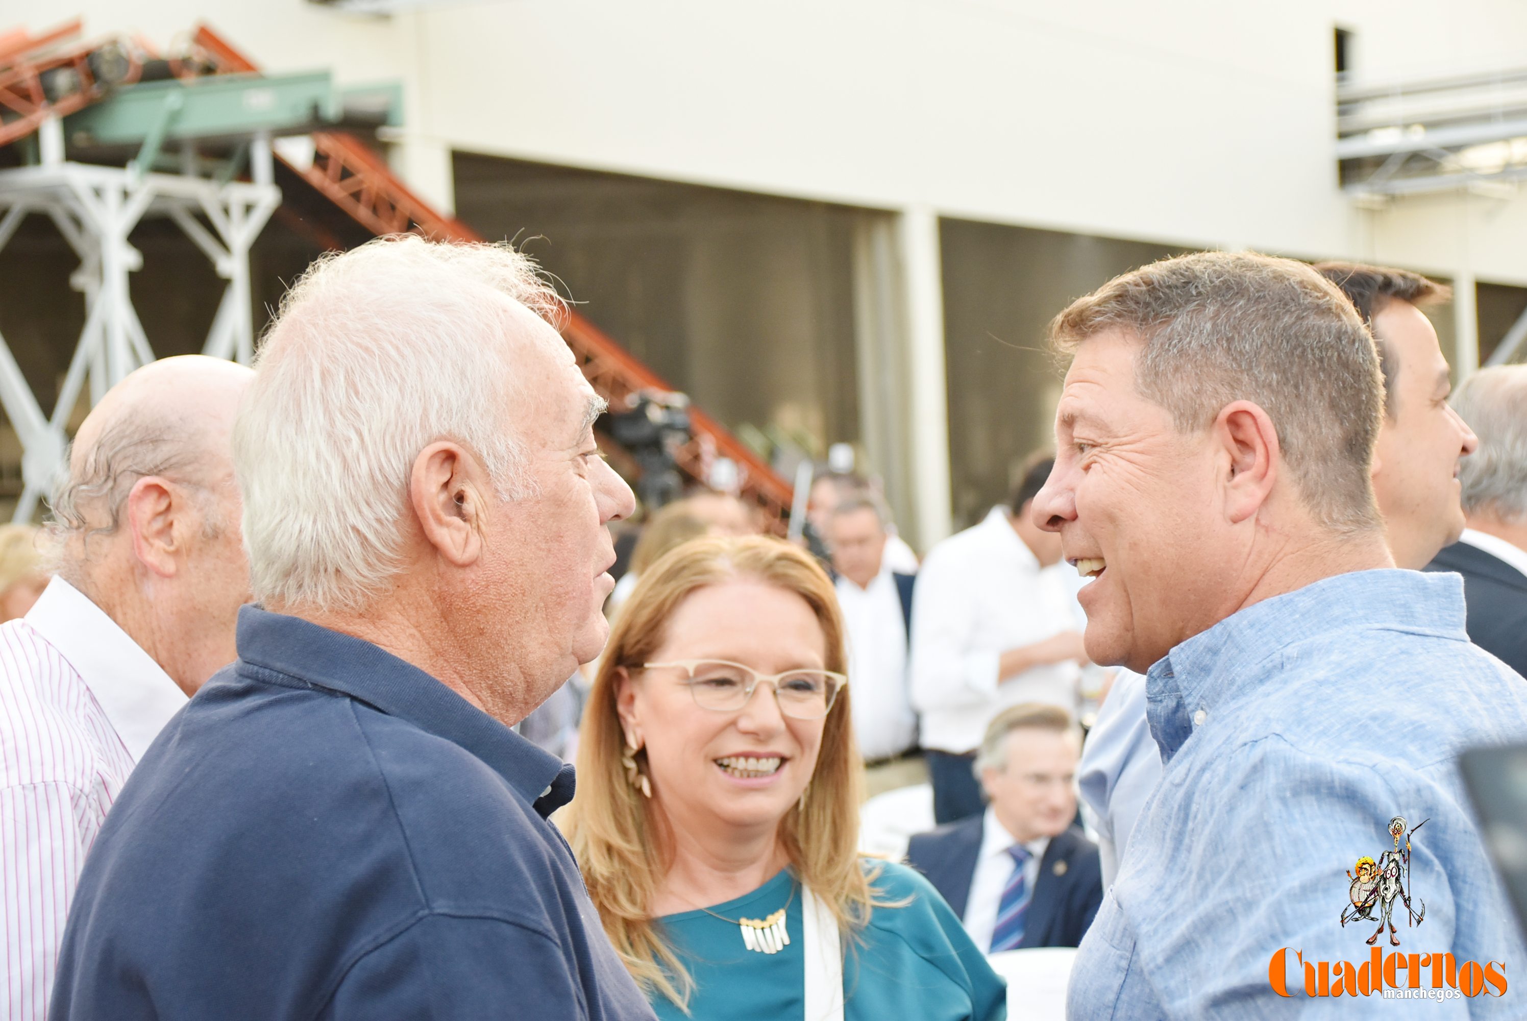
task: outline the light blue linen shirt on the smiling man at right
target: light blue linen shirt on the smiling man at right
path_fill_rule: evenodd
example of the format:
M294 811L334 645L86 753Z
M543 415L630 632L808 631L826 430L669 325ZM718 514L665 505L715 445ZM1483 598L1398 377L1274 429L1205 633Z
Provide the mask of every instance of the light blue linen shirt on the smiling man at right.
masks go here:
M1463 624L1457 575L1358 572L1248 607L1151 666L1165 772L1083 940L1067 1016L1527 1016L1527 948L1454 764L1527 740L1527 682ZM1504 997L1303 995L1296 951L1370 960L1376 922L1341 925L1347 873L1393 850L1393 816L1425 821L1409 891L1426 916L1412 928L1394 902L1397 952L1500 961ZM1287 1000L1269 983L1280 948Z

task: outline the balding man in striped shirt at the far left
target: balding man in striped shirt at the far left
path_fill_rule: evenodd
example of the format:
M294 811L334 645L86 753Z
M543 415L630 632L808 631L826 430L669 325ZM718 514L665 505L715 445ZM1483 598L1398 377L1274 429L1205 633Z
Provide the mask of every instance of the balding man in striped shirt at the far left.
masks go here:
M249 569L231 434L253 371L139 368L52 500L56 576L0 625L0 1016L41 1021L86 851L160 728L232 662Z

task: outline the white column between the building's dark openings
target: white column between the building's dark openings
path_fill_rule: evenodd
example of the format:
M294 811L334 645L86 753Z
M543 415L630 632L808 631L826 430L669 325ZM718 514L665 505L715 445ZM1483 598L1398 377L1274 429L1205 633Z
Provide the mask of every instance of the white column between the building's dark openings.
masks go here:
M910 206L901 211L896 228L907 309L907 425L916 509L915 544L927 552L950 533L953 520L939 217L931 208Z

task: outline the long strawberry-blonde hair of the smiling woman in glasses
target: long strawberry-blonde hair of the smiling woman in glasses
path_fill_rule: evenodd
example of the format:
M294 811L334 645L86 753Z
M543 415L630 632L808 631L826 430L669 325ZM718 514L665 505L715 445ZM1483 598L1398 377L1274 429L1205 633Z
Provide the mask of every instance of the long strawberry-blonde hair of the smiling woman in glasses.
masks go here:
M666 848L654 841L652 802L626 781L620 763L625 731L615 708L615 673L638 668L661 648L666 621L692 593L739 579L777 585L805 599L826 639L826 669L844 671L843 616L832 582L809 553L751 535L693 540L670 550L643 573L611 630L583 711L579 787L565 822L588 896L626 969L646 992L661 992L686 1009L693 980L649 909L670 862ZM858 853L863 783L844 688L823 724L803 805L780 819L779 838L796 876L851 932L863 929L878 905L870 886L875 874L866 874Z

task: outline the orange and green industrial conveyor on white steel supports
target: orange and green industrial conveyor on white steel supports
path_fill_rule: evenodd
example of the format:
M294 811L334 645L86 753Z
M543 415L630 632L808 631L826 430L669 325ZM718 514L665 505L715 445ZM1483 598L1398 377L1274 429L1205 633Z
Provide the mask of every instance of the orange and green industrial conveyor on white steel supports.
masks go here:
M61 466L87 379L93 404L154 358L128 290L142 266L128 240L140 219L168 217L228 280L205 352L241 362L253 355L249 249L281 203L273 160L373 234L483 240L414 194L357 136L399 124L395 86L339 90L327 72L263 75L206 26L171 60L136 40L72 43L78 32L75 21L41 37L0 35L0 145L32 147L29 165L0 170L0 248L23 217L47 216L79 257L70 284L86 295L86 326L50 414L0 338L0 407L23 446L18 521L32 518ZM66 139L70 156L92 162L66 159ZM563 338L612 410L670 390L577 313ZM705 481L715 459L730 459L741 494L780 527L788 483L699 410L689 417L695 437L675 451L680 469Z

